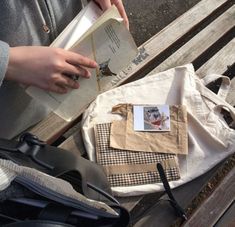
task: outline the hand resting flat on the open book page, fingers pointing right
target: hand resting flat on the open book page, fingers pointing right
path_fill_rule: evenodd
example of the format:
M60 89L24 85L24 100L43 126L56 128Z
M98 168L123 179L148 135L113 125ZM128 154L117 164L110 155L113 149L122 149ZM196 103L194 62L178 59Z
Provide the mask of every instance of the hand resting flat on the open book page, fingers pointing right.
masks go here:
M80 54L53 47L11 47L6 80L33 85L47 91L66 93L79 88L69 75L89 78L87 68L97 63Z

